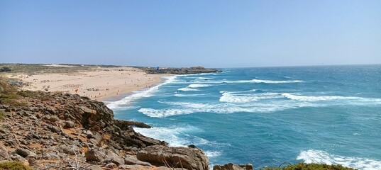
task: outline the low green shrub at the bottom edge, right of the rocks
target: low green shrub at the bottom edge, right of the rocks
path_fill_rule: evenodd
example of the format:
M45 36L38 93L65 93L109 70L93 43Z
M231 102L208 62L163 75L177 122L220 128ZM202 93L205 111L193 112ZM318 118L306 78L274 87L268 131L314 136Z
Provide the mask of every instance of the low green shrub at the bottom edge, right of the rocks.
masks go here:
M352 168L343 167L341 165L327 165L327 164L305 164L299 163L280 168L265 168L261 170L354 170Z

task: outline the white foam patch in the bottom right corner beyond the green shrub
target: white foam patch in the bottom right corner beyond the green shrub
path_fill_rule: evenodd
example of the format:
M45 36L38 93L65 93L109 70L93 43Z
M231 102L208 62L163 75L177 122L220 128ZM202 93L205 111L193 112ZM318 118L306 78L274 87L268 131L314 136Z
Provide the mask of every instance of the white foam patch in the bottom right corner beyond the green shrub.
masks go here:
M307 164L341 164L342 166L355 169L381 169L381 161L379 160L361 157L343 157L314 149L300 152L297 159L302 159Z

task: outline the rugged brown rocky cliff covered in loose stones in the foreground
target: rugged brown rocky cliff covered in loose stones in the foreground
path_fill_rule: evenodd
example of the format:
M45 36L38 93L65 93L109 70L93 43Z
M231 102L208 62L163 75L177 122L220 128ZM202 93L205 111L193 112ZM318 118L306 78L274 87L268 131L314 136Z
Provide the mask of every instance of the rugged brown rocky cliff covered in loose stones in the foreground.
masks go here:
M140 135L104 103L0 84L0 162L33 169L209 169L201 149Z

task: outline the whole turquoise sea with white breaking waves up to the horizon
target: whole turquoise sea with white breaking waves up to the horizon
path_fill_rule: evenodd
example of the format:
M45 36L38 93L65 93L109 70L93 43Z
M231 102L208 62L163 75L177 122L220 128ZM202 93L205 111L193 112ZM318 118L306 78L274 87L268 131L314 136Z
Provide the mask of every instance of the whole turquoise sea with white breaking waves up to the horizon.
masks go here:
M167 77L109 103L115 117L211 164L283 162L381 169L381 65L223 69Z

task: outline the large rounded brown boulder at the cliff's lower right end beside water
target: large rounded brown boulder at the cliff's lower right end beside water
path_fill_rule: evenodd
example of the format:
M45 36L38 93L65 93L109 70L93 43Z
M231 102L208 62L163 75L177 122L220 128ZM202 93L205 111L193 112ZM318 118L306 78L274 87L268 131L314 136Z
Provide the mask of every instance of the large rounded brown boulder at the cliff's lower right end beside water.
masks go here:
M150 162L157 166L169 164L175 168L209 169L208 157L197 148L154 145L140 150L136 156L140 161Z

